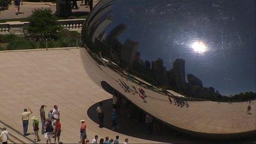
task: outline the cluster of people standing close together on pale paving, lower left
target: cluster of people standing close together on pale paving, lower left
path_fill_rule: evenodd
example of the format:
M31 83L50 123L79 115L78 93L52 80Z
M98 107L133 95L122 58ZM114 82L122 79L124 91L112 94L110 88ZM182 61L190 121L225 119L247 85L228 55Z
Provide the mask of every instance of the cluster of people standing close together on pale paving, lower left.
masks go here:
M40 108L40 117L42 122L41 134L44 135L46 143L51 143L51 138L54 138L54 143L60 143L60 135L61 135L61 122L60 122L60 110L57 105L54 105L54 109L49 111L48 118L46 119L44 108L46 105L41 105ZM23 122L23 135L29 135L28 125L29 125L29 115L32 114L33 111L29 108L25 108L22 113L22 122ZM36 116L32 116L33 120L33 130L35 141L41 141L39 137L39 120Z

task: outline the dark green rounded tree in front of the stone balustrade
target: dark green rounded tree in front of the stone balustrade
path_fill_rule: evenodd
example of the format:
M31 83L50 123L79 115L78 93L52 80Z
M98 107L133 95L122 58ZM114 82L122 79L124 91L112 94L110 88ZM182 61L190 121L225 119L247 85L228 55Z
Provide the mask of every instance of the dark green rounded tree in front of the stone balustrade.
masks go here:
M56 24L57 18L50 8L34 9L29 17L30 25L26 34L33 41L56 40L60 26Z

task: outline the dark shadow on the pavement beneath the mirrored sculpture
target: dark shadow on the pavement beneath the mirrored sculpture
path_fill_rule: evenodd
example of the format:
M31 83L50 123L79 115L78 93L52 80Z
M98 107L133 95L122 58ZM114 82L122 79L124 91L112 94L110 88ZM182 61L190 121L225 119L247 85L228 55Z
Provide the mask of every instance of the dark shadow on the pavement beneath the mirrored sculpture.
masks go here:
M111 111L112 111L112 99L104 100L103 102L103 108L105 110L105 117L104 117L104 126L106 129L111 130ZM99 103L92 105L88 111L87 114L90 119L92 119L94 122L99 124L96 109ZM159 125L163 131L160 132L153 132L152 135L148 134L148 131L146 130L146 124L143 122L142 119L140 119L143 115L142 111L137 109L135 106L132 106L131 108L131 116L130 118L127 117L125 114L125 106L121 106L121 112L118 115L118 126L119 129L116 130L116 132L120 132L121 134L143 138L146 140L152 140L152 141L160 141L160 142L196 142L197 140L189 140L188 138L185 138L184 134L175 131L170 130L169 127L164 127L164 125Z

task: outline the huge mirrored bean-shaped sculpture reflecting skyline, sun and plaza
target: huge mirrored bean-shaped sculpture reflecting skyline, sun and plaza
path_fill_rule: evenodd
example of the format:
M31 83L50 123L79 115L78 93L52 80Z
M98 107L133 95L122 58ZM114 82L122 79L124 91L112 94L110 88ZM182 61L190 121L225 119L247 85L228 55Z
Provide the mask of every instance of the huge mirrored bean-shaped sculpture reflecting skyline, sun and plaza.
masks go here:
M100 1L82 42L95 83L165 124L255 132L255 1Z

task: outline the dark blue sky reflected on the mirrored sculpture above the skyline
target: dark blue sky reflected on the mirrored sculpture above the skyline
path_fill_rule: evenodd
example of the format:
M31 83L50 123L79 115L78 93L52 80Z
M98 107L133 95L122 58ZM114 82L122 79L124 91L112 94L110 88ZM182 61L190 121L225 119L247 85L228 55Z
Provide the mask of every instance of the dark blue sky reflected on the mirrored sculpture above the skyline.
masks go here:
M185 73L224 95L256 90L255 1L111 1L114 21L123 23L118 39L139 42L141 60L163 60L170 70L176 58ZM204 44L205 52L193 44Z

